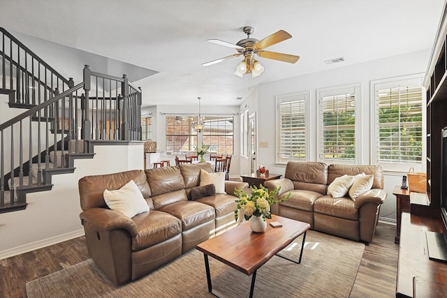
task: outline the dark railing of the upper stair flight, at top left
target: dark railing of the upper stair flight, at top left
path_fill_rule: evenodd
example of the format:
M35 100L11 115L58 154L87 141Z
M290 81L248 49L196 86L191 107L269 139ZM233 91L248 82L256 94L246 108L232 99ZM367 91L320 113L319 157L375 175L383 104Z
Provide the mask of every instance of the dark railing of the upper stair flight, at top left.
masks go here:
M38 105L69 88L65 77L1 27L0 43L0 89L15 91L10 104Z

